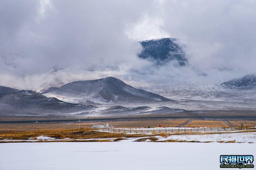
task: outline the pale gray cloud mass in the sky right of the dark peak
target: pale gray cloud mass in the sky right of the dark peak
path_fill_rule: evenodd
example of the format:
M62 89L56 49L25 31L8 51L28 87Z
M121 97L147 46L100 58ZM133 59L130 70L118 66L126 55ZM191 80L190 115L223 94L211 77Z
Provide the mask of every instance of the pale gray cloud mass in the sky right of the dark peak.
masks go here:
M191 64L256 72L256 2L166 1L165 29L187 45Z

